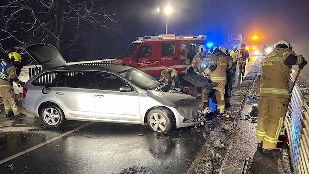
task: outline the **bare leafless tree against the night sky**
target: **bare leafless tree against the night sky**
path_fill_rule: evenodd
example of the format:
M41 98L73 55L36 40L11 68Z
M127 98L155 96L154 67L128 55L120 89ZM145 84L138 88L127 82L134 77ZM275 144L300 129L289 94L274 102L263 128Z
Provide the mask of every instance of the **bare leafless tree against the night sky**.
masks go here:
M60 51L87 49L117 28L113 0L7 0L0 2L0 49L10 44L50 43ZM10 45L10 47L8 47ZM78 45L78 46L77 46ZM100 47L100 45L99 45ZM90 51L89 51L90 50Z

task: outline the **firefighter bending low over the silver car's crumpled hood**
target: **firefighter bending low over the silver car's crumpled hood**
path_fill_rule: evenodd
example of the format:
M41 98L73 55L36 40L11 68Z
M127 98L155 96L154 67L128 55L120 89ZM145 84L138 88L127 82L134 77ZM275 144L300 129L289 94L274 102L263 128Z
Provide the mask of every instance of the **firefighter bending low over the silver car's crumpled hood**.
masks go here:
M178 80L178 73L173 68L164 69L161 72L160 82L164 82L165 84L171 84L175 87L180 87L180 82Z

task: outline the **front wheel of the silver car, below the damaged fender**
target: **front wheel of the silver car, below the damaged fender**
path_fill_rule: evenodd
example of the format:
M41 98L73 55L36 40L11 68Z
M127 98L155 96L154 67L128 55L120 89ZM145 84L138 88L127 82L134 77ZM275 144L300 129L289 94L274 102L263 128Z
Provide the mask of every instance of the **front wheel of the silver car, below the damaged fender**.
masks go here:
M165 133L174 130L175 121L165 108L154 108L147 115L147 123L152 131Z

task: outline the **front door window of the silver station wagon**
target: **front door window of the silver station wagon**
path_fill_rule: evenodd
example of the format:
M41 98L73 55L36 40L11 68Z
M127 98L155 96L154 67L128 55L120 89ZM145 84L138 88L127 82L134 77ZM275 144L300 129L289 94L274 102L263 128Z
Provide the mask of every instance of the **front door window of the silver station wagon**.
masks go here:
M129 85L121 78L105 72L96 72L95 79L97 84L96 89L119 91L120 87Z

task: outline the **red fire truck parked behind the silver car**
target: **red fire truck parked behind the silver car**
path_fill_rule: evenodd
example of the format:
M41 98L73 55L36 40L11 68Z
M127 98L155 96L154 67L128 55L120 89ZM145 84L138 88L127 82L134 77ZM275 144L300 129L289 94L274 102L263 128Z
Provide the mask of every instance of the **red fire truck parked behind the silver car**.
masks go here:
M174 68L179 75L185 74L199 46L207 43L206 35L161 34L136 39L113 63L137 67L153 77L160 77L167 68Z

